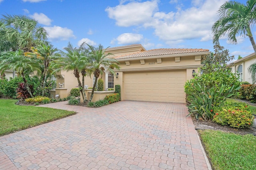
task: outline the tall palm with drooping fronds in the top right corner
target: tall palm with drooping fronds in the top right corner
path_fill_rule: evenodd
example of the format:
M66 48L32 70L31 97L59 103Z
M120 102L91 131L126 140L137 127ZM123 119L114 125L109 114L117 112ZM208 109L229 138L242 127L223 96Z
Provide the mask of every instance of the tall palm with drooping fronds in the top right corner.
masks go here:
M218 10L220 19L212 26L213 43L218 44L220 37L228 34L228 41L236 44L236 35L248 36L256 53L251 27L256 23L256 0L247 0L246 5L227 1Z

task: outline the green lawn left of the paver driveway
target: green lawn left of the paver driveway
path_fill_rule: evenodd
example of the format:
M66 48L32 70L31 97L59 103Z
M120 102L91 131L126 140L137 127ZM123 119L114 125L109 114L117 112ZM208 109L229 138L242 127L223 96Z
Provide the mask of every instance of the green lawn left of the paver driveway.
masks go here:
M60 109L15 105L16 101L0 99L0 136L75 114Z

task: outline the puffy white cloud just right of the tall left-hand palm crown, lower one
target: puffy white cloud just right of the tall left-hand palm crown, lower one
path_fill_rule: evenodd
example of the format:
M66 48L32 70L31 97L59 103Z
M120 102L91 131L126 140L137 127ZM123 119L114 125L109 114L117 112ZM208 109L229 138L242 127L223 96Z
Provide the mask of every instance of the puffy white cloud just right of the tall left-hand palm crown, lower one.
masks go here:
M53 26L53 27L44 27L44 29L46 29L46 31L49 34L49 39L50 40L68 40L70 38L76 38L76 36L74 36L73 31L68 29L68 28L62 28L59 26Z

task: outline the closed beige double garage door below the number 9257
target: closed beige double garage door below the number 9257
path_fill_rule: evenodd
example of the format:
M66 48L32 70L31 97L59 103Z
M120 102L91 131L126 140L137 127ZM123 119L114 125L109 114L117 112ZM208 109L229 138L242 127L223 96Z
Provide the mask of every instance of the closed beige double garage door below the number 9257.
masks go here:
M186 71L124 73L124 100L185 103Z

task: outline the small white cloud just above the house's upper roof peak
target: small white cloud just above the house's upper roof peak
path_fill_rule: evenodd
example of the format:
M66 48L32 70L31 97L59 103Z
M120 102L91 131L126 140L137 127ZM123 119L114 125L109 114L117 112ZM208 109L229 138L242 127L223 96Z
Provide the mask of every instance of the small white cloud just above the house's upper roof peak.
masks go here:
M142 41L142 34L125 33L116 38L118 44L134 44Z

